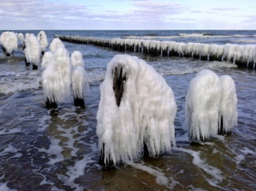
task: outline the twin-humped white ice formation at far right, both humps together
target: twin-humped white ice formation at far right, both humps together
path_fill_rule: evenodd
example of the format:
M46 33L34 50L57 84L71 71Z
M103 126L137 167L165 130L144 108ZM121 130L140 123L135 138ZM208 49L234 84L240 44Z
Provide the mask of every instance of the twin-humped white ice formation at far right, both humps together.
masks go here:
M237 96L230 76L202 70L190 81L186 96L186 126L193 140L226 134L237 126Z

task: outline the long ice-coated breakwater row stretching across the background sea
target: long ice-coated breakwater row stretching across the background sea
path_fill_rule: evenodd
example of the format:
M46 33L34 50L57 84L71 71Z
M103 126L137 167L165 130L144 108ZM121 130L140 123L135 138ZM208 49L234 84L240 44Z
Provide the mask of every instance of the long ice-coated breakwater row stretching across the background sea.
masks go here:
M256 45L179 43L148 39L106 39L65 35L54 35L54 37L72 43L108 47L113 51L141 52L154 56L189 57L203 61L225 61L236 64L239 68L255 69L256 62Z

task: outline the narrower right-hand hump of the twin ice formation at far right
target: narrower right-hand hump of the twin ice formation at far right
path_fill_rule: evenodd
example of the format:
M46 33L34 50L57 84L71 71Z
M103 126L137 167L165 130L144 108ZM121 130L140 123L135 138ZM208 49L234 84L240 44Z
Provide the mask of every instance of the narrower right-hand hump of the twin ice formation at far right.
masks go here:
M221 97L219 111L219 134L229 133L237 127L237 96L234 80L227 75L221 76Z

